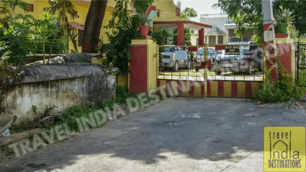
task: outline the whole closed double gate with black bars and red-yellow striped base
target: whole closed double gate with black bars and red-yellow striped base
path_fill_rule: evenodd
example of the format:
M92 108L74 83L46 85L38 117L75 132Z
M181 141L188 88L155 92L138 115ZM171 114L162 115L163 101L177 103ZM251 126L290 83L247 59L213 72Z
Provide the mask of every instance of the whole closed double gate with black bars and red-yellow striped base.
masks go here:
M158 46L157 92L202 98L255 97L264 78L263 50L263 44L238 43Z

